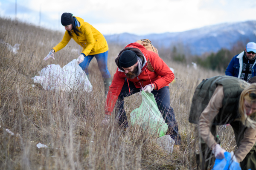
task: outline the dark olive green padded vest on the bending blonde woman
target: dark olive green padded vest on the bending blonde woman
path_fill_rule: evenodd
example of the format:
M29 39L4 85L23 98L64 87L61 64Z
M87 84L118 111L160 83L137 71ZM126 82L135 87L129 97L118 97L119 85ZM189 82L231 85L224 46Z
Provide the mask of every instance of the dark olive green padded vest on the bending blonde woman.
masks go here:
M223 86L223 107L215 116L213 125L225 125L240 117L238 110L240 94L249 84L236 77L216 76L204 79L195 89L189 113L190 123L198 123L201 113L208 105L218 85Z

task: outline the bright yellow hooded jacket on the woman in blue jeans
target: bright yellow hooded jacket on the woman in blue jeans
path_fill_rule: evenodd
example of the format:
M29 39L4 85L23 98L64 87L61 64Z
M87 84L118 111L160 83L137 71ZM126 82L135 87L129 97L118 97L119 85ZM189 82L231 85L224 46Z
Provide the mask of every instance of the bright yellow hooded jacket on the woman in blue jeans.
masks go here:
M100 54L108 51L108 43L105 37L89 23L84 22L82 18L76 17L76 19L80 23L79 27L76 26L76 28L81 31L79 36L77 36L75 32L71 30L71 37L66 30L61 42L52 49L54 49L55 52L61 50L67 45L70 39L73 38L79 45L81 45L83 48L81 53L85 54L85 56Z

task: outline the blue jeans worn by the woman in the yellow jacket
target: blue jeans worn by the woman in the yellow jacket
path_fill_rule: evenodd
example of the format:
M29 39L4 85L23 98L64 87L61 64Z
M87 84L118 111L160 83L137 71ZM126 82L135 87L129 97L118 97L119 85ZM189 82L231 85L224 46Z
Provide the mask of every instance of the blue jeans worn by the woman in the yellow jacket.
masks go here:
M103 79L111 77L108 71L108 51L106 51L105 53L84 57L84 61L81 62L79 65L83 69L83 71L85 71L85 74L89 74L88 67L93 57L95 57L98 62L99 71L101 72Z

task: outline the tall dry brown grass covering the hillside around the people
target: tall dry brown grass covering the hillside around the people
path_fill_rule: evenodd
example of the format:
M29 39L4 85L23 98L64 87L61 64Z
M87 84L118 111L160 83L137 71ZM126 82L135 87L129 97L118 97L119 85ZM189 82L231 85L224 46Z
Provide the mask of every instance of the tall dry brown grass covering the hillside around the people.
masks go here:
M43 61L63 34L26 23L0 18L0 39L11 45L21 44L17 54L0 43L0 169L14 170L80 170L80 169L195 169L198 149L197 127L188 122L192 95L202 79L222 73L201 68L187 68L160 57L175 69L175 82L170 84L174 108L182 138L180 148L168 154L156 142L156 136L137 126L126 131L111 124L102 126L104 115L103 80L95 59L90 63L93 92L45 91L32 87L31 77L46 65L61 67L79 56L79 45L73 40L58 51L55 60ZM146 37L145 37L146 38ZM114 59L121 49L109 44L108 68L116 71ZM81 48L80 48L81 52ZM140 96L125 99L130 112L140 106ZM6 129L15 134L7 133ZM218 129L222 146L234 150L233 130ZM38 149L41 142L48 148Z

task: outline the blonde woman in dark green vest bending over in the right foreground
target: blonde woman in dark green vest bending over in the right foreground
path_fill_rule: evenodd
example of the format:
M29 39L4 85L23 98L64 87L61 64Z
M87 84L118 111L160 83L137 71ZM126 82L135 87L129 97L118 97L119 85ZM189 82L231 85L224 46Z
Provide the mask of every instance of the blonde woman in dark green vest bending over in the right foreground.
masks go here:
M228 123L238 146L233 161L239 162L242 170L256 170L255 118L256 83L230 76L203 80L195 90L189 114L189 122L198 123L201 136L201 170L211 169L215 158L224 158L225 150L216 138L216 125Z

